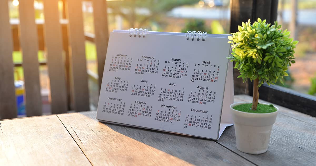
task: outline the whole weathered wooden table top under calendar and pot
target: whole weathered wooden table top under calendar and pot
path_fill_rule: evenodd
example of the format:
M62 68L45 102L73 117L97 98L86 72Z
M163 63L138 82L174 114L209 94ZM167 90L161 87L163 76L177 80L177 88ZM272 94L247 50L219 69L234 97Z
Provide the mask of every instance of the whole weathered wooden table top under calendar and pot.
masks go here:
M316 118L277 107L260 155L237 150L234 126L213 141L101 123L96 111L0 120L0 165L315 165Z

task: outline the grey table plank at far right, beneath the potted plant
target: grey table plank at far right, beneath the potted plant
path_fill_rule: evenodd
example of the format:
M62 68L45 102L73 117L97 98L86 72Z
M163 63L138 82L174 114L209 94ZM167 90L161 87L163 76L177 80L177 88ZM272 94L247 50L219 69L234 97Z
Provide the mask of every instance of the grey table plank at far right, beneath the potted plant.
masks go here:
M236 96L234 101L244 101L240 98L240 96ZM247 101L249 100L247 99ZM259 102L264 101L260 100ZM283 107L279 108L280 113L277 115L276 123L272 129L268 151L264 154L251 155L238 151L234 126L228 127L217 142L257 165L315 165L316 126L298 120L300 118L310 119L311 117L303 117L299 113L295 118L292 118L287 112L294 111Z

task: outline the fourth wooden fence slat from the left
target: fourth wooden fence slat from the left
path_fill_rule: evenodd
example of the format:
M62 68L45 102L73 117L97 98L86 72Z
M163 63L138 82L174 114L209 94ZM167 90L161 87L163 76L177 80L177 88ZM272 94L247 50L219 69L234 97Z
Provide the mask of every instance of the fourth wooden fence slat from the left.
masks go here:
M82 1L67 0L71 96L76 111L89 110L88 74L83 31Z

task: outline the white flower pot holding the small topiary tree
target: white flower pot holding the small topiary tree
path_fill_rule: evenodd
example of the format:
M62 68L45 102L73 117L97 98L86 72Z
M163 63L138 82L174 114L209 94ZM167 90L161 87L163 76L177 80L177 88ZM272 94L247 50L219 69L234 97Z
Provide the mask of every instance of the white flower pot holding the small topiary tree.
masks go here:
M250 154L264 153L267 151L272 126L276 121L279 109L275 107L276 112L263 114L246 113L233 109L236 105L246 103L252 102L238 102L230 105L234 119L237 149Z

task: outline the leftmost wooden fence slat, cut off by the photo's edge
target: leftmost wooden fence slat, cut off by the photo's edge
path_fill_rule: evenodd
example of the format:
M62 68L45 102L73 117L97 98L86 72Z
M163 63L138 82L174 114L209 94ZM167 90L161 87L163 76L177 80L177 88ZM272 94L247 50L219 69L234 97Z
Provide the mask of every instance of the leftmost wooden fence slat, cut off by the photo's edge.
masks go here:
M12 32L8 1L0 1L0 119L16 118Z

